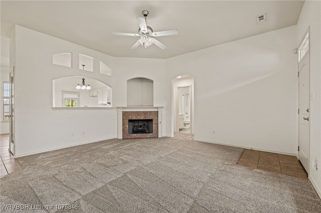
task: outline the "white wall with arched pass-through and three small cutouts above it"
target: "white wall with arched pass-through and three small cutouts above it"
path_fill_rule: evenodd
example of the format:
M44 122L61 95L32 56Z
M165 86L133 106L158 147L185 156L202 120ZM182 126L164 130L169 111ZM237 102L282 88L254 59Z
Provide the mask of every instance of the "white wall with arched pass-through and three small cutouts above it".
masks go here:
M116 137L116 109L52 109L53 79L85 75L113 86L114 76L99 73L99 60L113 68L113 57L22 26L15 26L11 38L16 157ZM73 53L72 68L52 64L52 54L58 52ZM94 57L94 72L79 70L78 53Z

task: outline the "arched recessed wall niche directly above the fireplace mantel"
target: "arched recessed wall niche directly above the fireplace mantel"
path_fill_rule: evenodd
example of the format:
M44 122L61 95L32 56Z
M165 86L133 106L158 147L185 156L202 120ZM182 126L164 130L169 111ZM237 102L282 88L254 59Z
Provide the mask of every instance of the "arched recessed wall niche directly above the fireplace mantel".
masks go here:
M153 106L153 84L144 77L127 80L127 106Z

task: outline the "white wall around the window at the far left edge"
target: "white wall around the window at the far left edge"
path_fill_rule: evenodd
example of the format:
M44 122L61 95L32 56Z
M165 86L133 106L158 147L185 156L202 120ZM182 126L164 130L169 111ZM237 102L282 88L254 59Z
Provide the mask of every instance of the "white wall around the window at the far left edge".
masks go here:
M0 133L1 134L5 134L5 133L9 133L9 121L4 121L3 120L3 112L4 112L4 108L3 108L3 82L7 81L9 82L9 43L10 40L9 38L1 35L1 41L0 41L0 45L1 45L1 56L0 56L0 83L1 83L1 88L0 88Z

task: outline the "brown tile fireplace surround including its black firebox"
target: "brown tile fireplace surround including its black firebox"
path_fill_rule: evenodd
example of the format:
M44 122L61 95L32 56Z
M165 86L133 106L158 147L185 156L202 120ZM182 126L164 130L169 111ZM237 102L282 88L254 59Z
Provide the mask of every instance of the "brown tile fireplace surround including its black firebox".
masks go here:
M158 111L123 111L122 138L157 138Z

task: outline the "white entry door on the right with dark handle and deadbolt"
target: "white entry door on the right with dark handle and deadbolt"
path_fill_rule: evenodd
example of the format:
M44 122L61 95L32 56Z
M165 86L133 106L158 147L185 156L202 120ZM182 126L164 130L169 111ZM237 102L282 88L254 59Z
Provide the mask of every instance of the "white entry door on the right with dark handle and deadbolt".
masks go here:
M299 61L299 160L309 173L310 153L310 74L309 51Z

